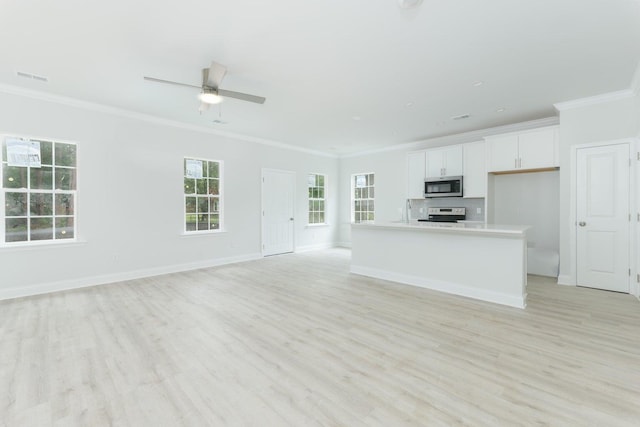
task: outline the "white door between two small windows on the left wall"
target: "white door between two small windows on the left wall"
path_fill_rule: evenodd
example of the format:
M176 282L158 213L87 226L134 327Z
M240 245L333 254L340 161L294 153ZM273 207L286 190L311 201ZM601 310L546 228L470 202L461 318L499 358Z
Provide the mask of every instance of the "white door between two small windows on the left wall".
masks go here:
M295 172L262 170L262 255L293 252Z

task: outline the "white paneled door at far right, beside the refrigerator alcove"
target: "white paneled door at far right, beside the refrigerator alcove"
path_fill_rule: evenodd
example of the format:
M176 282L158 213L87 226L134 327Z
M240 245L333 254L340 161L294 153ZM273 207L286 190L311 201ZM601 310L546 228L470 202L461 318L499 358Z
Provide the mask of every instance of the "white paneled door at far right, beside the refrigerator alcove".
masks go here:
M629 144L577 150L577 284L629 292Z

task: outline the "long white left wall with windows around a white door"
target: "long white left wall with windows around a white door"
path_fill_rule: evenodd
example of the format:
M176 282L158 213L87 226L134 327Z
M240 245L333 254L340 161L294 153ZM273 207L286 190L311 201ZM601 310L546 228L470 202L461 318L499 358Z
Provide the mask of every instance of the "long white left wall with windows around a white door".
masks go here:
M262 168L297 173L296 249L336 242L336 158L5 94L0 132L78 144L80 240L0 248L0 298L258 257ZM182 235L185 156L224 161L226 232ZM306 226L308 173L328 176L330 226Z

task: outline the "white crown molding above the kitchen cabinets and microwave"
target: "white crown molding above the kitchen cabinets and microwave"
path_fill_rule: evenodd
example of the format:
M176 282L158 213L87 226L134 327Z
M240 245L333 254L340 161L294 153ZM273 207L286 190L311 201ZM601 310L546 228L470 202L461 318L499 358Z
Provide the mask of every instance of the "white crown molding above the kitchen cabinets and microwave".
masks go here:
M397 150L412 151L412 150L421 150L425 148L443 147L446 145L453 145L453 144L464 144L467 142L480 141L484 137L491 136L491 135L499 135L499 134L510 133L510 132L521 132L521 131L541 128L545 126L555 126L555 125L558 125L559 123L560 121L558 117L547 117L547 118L538 119L538 120L530 120L527 122L512 123L508 125L496 126L492 128L474 130L474 131L469 131L464 133L444 135L444 136L439 136L435 138L423 139L420 141L408 142L405 144L397 144L397 145L392 145L388 147L374 148L371 150L344 154L340 156L340 158L344 159L344 158L350 158L350 157L360 157L360 156L366 156L369 154L384 153L388 151L397 151Z

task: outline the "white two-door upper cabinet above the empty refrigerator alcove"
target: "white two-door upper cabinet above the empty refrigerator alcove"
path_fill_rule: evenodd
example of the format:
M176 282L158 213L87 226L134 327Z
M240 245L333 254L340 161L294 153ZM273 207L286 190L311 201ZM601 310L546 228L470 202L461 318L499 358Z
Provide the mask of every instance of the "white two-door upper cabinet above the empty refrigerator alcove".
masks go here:
M489 136L485 141L488 172L523 172L559 166L557 126Z

